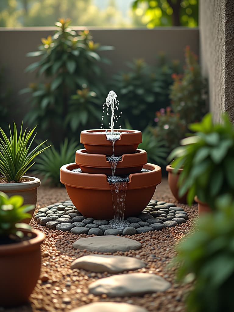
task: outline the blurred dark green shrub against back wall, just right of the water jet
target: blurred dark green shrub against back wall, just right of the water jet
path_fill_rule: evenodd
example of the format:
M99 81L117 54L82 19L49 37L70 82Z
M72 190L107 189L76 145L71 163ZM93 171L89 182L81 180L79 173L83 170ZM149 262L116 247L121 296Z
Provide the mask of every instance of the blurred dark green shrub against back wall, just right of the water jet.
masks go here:
M113 85L124 117L131 120L134 129L144 130L155 111L168 105L171 76L180 70L179 62L170 62L160 53L155 66L147 65L142 59L127 65L130 71L114 75Z

